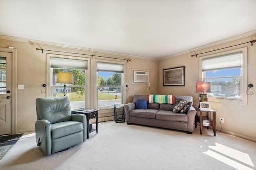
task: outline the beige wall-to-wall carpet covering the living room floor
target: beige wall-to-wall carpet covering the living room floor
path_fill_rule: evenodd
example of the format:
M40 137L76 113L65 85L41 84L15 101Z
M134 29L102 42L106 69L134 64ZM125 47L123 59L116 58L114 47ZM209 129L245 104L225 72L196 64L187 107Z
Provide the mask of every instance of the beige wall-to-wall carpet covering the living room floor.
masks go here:
M85 142L44 156L35 134L23 134L0 160L1 170L228 170L256 169L256 143L196 128L193 134L162 128L99 124Z

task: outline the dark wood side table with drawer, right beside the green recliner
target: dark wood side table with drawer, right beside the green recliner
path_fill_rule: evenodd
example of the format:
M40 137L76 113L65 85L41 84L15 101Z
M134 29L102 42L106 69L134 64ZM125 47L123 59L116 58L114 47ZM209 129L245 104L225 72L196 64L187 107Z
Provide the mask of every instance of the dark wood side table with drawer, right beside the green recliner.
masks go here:
M86 115L87 118L87 138L89 138L89 134L91 132L94 132L96 130L96 133L98 133L98 109L92 109L92 111L83 111L83 109L75 109L72 110L72 114L75 113L81 113ZM90 119L96 119L96 128L89 129L89 123Z

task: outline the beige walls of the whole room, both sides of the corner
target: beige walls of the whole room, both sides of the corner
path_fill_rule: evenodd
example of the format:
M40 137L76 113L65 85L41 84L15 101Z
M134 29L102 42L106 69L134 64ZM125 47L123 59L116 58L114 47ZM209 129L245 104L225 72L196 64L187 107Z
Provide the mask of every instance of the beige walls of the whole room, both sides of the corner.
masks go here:
M191 57L194 53L202 53L222 47L227 47L230 45L235 45L238 43L248 42L250 40L256 39L256 35L250 36L248 38L243 38L241 40L236 40L233 42L224 43L221 45L216 45L214 47L209 47L206 49L202 49L200 51L193 51L191 53L186 53L177 57L170 57L168 59L162 60L154 60L154 59L142 59L142 58L132 58L132 61L128 61L126 63L125 70L125 83L128 85L129 90L124 91L124 95L126 96L125 103L129 103L132 101L132 96L135 94L149 94L149 89L147 91L147 85L134 85L132 84L132 69L141 69L149 71L149 81L151 84L150 94L172 94L172 95L191 95L194 98L194 106L198 106L198 93L196 91L196 81L198 81L198 58ZM40 46L37 43L32 42L24 42L24 40L6 40L0 39L0 47L8 46L14 47L14 49L18 49L17 56L17 84L24 84L24 90L17 90L17 127L16 132L26 132L34 130L34 123L36 121L36 107L35 100L38 97L46 97L46 93L41 93L44 91L42 84L46 83L46 53L47 51L36 51L36 48L50 49L56 51L67 51L74 53L86 53L86 54L94 54L94 51L84 51L72 48L64 48L57 47L53 45L43 45ZM248 95L248 104L247 105L239 105L239 104L230 104L230 103L218 103L211 102L212 108L217 111L216 120L220 120L220 117L224 118L225 123L222 124L222 131L230 134L234 134L236 136L240 136L243 138L247 138L250 140L256 141L256 115L254 109L254 102L256 101L256 44L253 46L250 43L239 45L236 47L223 49L219 51L215 51L212 53L219 53L222 51L228 51L230 49L237 49L240 47L248 47L248 82L252 83L254 87L250 89L250 93L255 93L254 95ZM50 52L54 54L62 54L68 55L64 53L58 52ZM207 53L212 54L212 53ZM118 56L118 55L109 55L100 53L98 55L109 56L109 57L117 57L127 59L126 56ZM106 59L106 58L97 58L93 57L91 59L90 56L83 55L75 55L79 57L86 57L90 59L90 89L91 91L88 93L90 100L94 101L95 92L93 81L96 80L95 73L95 60L96 59ZM203 55L199 55L203 56ZM111 60L111 59L106 59ZM120 61L120 60L116 60ZM125 61L126 62L126 61ZM184 87L169 87L163 86L162 84L162 70L168 69L172 67L185 66L185 86ZM17 87L16 87L17 88ZM245 93L245 92L244 92ZM94 103L90 103L90 106L94 106ZM104 113L107 116L112 116L113 112L108 111ZM102 118L101 121L113 120L113 116L108 119ZM216 123L217 129L220 130L220 123ZM218 135L218 134L217 134Z

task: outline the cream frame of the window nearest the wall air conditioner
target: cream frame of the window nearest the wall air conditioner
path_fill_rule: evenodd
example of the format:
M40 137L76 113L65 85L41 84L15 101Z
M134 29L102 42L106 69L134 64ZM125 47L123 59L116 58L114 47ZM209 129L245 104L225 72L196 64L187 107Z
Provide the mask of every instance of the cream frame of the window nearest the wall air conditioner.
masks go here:
M122 64L124 65L124 73L122 73L122 82L121 82L121 86L111 86L111 87L121 87L121 103L125 103L125 99L126 99L126 93L124 93L124 86L126 84L126 76L125 76L125 70L126 70L126 63L125 62L119 62L119 61L106 61L106 60L101 60L101 59L96 59L95 60L95 87L96 87L96 90L95 90L95 103L94 103L94 108L97 108L98 109L98 88L102 87L102 86L98 86L98 71L97 71L97 63L98 62L103 62L103 63L110 63L110 64ZM108 110L112 110L111 109L100 109L101 113L105 113L105 111L108 111ZM102 112L103 111L103 112Z

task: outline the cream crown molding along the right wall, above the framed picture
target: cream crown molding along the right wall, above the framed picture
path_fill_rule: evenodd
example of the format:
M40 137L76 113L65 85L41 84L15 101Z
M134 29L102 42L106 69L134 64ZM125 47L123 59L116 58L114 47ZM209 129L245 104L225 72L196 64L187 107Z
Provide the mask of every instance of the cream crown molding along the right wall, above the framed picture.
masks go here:
M177 57L179 55L183 55L183 54L186 54L186 53L191 53L193 51L198 51L198 50L201 50L201 49L205 49L205 48L212 47L212 46L215 46L215 45L220 45L220 44L223 44L223 43L232 42L232 41L235 41L235 40L239 40L241 38L246 38L246 37L254 36L254 35L256 35L256 30L246 32L244 34L239 34L237 36L233 36L233 37L226 38L226 39L223 39L223 40L219 40L217 42L208 43L206 45L202 45L202 46L199 46L199 47L196 47L196 48L193 48L193 49L188 49L188 50L182 51L180 53L175 53L175 54L172 54L172 55L168 55L168 56L160 58L159 60L164 60L164 59L168 59L168 58L172 58L172 57Z

